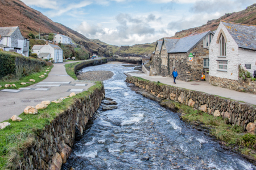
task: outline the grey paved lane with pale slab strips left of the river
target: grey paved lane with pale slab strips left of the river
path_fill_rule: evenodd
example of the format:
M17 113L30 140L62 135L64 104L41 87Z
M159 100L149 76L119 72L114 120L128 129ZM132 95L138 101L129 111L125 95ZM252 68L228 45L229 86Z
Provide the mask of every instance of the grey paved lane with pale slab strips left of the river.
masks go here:
M67 97L70 93L80 93L87 90L93 83L75 81L65 71L65 64L79 61L70 61L66 63L56 63L43 81L17 90L19 92L1 92L0 91L0 122L10 119L13 115L23 113L27 106L36 106L42 101L53 101L61 97Z

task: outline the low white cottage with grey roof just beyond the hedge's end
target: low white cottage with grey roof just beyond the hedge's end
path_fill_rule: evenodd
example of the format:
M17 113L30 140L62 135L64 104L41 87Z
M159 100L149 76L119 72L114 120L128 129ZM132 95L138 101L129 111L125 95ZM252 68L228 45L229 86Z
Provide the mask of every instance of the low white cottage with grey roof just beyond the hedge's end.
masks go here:
M53 59L54 63L63 62L63 50L58 45L49 44L46 45L34 45L32 52L37 53L38 57L42 59Z

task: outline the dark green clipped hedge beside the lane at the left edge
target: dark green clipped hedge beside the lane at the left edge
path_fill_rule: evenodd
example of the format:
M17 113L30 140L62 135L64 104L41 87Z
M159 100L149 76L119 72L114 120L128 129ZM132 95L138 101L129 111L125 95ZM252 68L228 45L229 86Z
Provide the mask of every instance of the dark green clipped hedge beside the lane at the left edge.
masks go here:
M46 66L45 61L24 57L15 52L0 51L0 79L12 75L16 78L39 72Z

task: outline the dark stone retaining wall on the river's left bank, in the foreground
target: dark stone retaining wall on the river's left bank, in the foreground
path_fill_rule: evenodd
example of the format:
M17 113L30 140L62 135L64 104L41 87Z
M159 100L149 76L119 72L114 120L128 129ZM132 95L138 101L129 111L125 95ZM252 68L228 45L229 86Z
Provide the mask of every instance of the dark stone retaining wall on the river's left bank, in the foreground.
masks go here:
M75 139L84 133L86 124L105 97L104 86L58 115L36 136L34 146L24 150L21 169L60 169L71 154Z

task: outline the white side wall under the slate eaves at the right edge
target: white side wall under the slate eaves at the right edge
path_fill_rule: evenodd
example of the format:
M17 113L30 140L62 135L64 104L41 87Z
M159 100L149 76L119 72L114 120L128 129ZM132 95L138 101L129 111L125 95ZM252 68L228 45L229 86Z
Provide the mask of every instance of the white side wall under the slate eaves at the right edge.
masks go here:
M238 49L238 59L241 66L245 69L245 64L251 64L251 69L246 69L253 74L253 71L256 70L256 51L249 49Z

